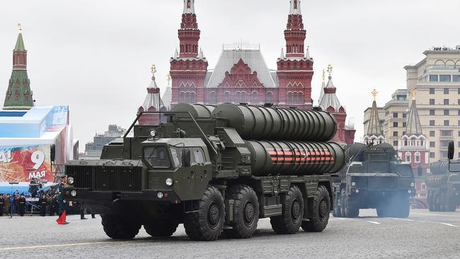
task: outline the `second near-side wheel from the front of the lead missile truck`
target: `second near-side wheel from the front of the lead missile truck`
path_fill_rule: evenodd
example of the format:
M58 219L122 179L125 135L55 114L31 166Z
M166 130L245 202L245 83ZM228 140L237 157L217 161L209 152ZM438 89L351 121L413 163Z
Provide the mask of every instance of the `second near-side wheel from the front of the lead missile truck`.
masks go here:
M227 200L234 200L234 219L224 229L226 236L231 238L250 238L253 236L259 220L259 202L255 191L248 185L232 186L227 192Z

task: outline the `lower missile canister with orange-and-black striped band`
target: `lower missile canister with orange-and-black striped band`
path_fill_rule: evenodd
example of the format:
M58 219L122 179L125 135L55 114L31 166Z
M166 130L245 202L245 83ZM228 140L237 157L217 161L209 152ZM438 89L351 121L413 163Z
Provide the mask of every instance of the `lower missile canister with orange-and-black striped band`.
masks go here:
M253 175L310 175L335 173L345 154L333 142L248 141Z

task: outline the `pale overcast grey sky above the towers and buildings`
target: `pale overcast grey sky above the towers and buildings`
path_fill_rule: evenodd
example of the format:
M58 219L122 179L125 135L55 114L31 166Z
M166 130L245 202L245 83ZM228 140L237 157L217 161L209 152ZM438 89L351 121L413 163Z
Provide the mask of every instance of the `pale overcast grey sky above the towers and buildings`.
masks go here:
M460 45L458 0L302 0L301 8L315 105L321 71L332 64L338 98L355 118L356 141L373 88L384 105L406 88L405 65L418 63L429 47ZM1 104L22 23L36 105L69 105L81 150L109 124L129 127L146 96L151 64L166 87L182 11L182 0L1 1ZM196 0L195 11L209 69L223 43L239 40L260 43L268 67L276 69L289 0Z

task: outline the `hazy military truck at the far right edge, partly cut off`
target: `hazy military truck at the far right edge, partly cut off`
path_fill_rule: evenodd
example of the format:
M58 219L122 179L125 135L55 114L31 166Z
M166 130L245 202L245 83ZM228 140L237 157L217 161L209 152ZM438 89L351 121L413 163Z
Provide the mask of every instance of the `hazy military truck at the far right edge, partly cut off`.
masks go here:
M430 164L430 175L425 179L430 212L454 212L460 205L459 163L437 161Z

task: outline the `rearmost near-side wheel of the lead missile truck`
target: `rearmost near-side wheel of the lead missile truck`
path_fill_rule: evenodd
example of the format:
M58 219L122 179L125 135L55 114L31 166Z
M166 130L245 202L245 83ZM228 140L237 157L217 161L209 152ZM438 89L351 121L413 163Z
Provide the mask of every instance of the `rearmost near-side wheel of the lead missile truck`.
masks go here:
M310 221L302 221L302 229L308 232L321 232L326 229L329 221L330 197L324 185L319 185L313 199L313 211Z

